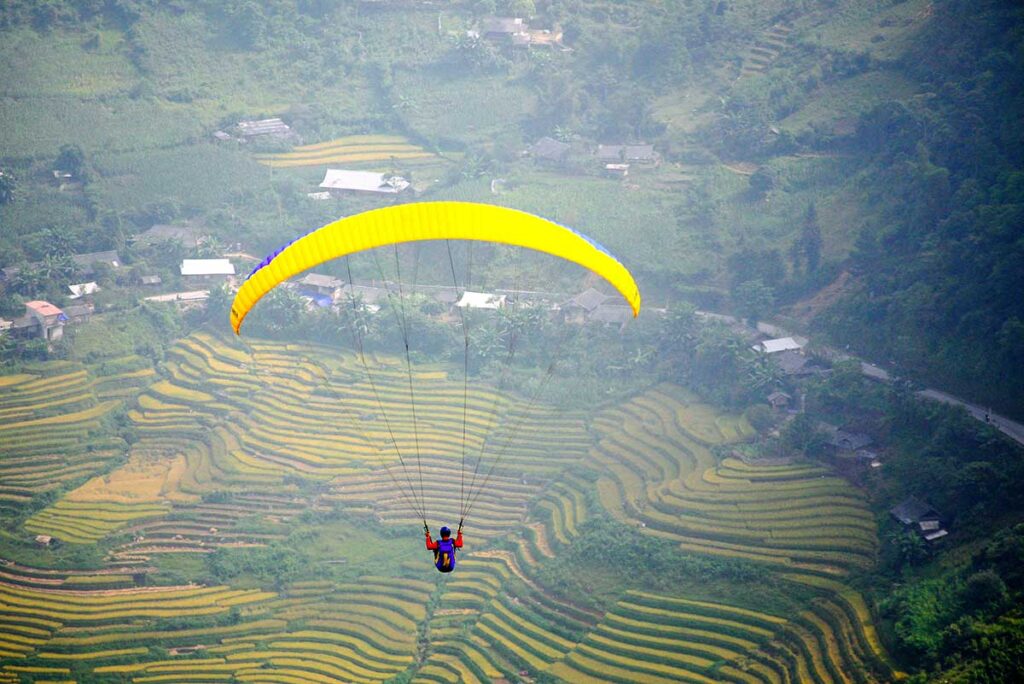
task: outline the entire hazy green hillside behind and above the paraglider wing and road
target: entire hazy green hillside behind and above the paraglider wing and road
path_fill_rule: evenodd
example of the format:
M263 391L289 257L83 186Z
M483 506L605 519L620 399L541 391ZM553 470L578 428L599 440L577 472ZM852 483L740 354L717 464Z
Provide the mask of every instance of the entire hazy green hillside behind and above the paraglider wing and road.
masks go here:
M495 12L561 32L566 49L525 56L466 38ZM258 114L313 140L389 129L465 154L443 178L450 196L488 198L482 181L507 177L520 189L499 201L578 216L640 262L648 292L768 315L834 283L830 308L798 317L1020 417L1022 24L1008 0L7 2L0 26L23 56L4 69L53 92L3 86L3 197L19 179L23 202L5 216L0 265L46 256L47 227L87 251L196 215L224 238L245 223L251 248L272 248L278 204L240 189L252 160L196 143ZM22 28L61 36L59 48L40 51ZM61 62L82 74L56 96L48 70ZM579 175L534 182L515 162L545 135L573 145L573 174L594 173L601 142L650 142L669 165L630 197ZM32 179L62 142L84 151L92 182L84 201L33 207L40 222L24 207L42 204ZM214 157L200 166L226 173L184 173ZM634 204L640 214L622 211ZM630 239L638 217L646 240Z

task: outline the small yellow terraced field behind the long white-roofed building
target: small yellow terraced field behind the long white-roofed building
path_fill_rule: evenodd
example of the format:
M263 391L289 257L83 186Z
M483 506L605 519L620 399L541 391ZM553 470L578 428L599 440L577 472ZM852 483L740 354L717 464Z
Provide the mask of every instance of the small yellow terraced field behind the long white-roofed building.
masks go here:
M327 142L302 145L292 152L257 155L260 164L274 168L297 166L358 166L410 160L436 159L435 155L413 144L400 135L349 135Z

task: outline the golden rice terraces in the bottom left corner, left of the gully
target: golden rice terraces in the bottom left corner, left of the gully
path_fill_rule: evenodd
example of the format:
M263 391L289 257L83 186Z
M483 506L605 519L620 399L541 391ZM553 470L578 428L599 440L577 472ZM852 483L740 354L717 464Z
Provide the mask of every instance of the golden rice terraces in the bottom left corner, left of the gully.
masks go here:
M15 678L68 676L63 666L75 665L131 682L383 681L412 665L433 590L365 576L297 583L282 595L195 585L82 591L69 589L71 575L9 574L19 581L0 581L0 672ZM31 586L44 574L56 584ZM180 627L195 616L215 619Z

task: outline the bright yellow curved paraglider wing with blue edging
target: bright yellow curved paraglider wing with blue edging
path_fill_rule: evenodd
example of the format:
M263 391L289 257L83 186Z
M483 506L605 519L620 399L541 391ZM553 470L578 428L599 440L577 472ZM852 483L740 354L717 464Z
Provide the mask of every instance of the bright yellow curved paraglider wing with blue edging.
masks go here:
M634 316L640 312L640 291L633 275L586 236L515 209L468 202L419 202L339 219L268 256L236 294L231 328L239 334L256 302L296 273L347 254L423 240L502 243L560 257L606 280L623 295Z

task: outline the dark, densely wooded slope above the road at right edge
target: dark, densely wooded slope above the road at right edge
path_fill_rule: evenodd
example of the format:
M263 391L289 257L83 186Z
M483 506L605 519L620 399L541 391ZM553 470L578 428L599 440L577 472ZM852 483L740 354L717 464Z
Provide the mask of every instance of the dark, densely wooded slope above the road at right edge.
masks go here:
M825 316L838 339L1021 415L1024 407L1024 9L936 2L901 68L912 100L861 117L879 206Z

